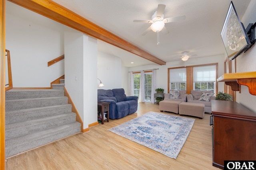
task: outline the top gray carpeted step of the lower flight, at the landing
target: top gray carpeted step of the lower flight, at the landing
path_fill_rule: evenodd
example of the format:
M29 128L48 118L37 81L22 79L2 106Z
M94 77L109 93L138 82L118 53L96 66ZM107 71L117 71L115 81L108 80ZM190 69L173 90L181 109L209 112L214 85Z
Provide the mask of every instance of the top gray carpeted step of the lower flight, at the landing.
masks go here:
M64 96L64 90L55 89L28 89L28 90L8 90L5 100L28 99L28 98L48 98Z

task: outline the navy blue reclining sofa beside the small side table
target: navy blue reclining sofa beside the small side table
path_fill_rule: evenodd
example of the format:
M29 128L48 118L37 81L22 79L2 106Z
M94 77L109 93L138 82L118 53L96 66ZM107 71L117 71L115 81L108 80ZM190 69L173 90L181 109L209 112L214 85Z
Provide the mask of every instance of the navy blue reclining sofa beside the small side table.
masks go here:
M138 97L126 96L123 88L112 90L98 89L98 101L110 103L110 119L120 119L135 113L138 109Z

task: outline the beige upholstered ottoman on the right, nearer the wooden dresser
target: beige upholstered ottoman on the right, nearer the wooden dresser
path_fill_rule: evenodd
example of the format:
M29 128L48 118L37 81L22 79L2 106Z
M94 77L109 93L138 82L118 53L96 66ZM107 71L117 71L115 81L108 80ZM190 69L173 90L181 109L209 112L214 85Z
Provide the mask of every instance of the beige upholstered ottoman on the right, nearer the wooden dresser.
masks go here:
M202 119L204 118L204 104L182 102L179 105L179 114L195 116L199 117L199 119Z

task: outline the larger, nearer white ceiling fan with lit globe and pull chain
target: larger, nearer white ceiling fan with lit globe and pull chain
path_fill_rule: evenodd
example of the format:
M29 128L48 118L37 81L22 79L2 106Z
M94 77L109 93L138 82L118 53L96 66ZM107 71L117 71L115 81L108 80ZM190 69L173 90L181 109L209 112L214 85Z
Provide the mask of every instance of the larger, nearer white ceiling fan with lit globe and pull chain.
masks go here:
M164 26L165 23L169 22L178 22L185 20L186 16L176 16L170 18L164 18L164 9L165 5L158 4L157 10L151 17L151 20L134 20L134 22L145 22L152 23L146 31L142 33L142 35L146 35L150 30L157 33L157 44L159 44L159 32L162 31L164 34L169 33L168 29Z

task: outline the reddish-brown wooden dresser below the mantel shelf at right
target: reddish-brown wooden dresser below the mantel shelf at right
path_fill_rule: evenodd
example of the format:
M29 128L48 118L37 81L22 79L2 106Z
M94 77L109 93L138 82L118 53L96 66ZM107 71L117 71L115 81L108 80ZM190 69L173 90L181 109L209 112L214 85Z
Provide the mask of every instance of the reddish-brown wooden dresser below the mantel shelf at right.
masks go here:
M256 160L256 113L237 102L212 100L212 165Z

